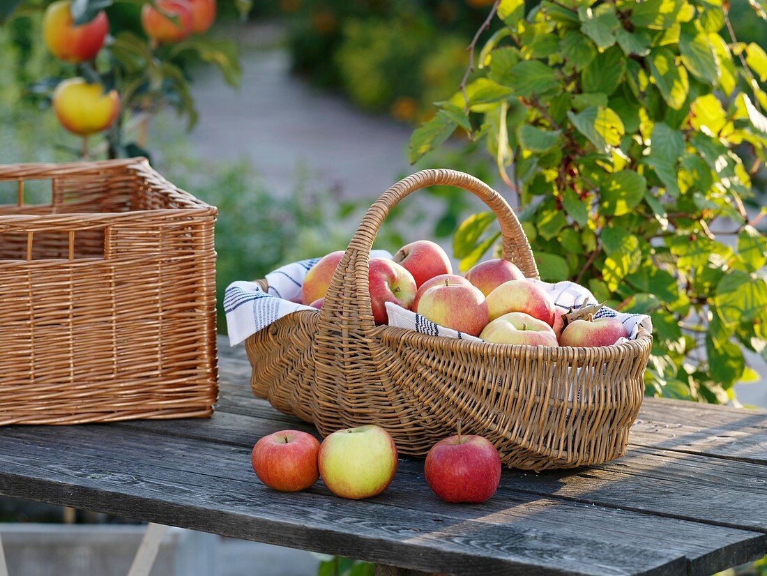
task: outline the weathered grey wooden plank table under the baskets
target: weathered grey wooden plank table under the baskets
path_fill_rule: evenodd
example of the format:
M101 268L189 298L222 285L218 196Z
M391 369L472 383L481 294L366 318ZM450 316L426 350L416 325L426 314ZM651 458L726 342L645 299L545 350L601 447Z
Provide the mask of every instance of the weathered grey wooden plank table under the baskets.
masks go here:
M220 346L209 420L0 428L0 494L361 558L380 574L712 574L767 552L767 413L646 399L627 456L505 470L482 505L447 505L400 459L384 494L258 482L255 440L310 426L256 400L242 348ZM138 572L137 572L138 573Z

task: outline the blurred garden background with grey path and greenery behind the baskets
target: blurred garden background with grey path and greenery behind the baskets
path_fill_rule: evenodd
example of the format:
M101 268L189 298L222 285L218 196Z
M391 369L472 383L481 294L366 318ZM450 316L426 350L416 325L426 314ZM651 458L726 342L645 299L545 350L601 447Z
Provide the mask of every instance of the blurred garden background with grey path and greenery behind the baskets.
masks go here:
M93 64L51 57L41 41L49 4L3 8L0 163L149 156L171 182L219 207L219 302L231 281L343 249L370 202L421 168L463 170L508 193L484 148L457 133L415 166L407 153L413 129L435 114L433 103L456 92L466 46L492 1L221 0L211 28L159 47L143 30L140 2L107 2L107 44L117 48ZM732 2L729 17L739 41L767 49L764 22L748 2ZM501 25L496 19L491 28ZM59 82L76 76L100 81L105 92L132 91L121 91L117 123L87 140L64 130L51 107ZM765 203L763 180L755 182L752 209ZM449 247L459 223L480 208L467 196L427 190L393 211L377 247L393 252L423 238ZM515 196L508 199L514 206ZM767 407L764 361L748 351L746 357L762 383L737 384L738 398ZM59 515L42 505L0 502L2 521ZM78 512L77 520L114 519ZM186 538L179 546L199 548ZM228 545L223 574L259 573L258 561L283 570L262 574L311 574L319 562L293 552L283 561L278 549L245 542Z

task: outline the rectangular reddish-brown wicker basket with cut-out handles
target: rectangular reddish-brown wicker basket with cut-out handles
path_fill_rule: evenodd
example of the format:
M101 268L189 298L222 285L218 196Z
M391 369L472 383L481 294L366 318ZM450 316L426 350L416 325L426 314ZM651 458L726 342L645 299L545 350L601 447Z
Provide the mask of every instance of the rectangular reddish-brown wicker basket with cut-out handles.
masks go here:
M209 416L216 209L141 158L0 166L0 193L0 424Z

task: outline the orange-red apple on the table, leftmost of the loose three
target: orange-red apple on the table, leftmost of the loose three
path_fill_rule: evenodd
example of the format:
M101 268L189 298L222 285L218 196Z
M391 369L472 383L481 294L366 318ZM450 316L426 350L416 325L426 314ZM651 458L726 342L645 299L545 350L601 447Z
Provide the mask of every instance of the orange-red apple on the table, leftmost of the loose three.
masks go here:
M269 488L298 492L317 482L320 476L320 443L299 430L281 430L259 439L251 454L253 471Z

